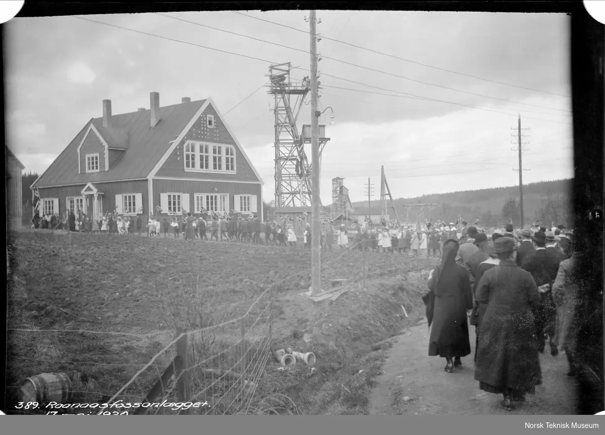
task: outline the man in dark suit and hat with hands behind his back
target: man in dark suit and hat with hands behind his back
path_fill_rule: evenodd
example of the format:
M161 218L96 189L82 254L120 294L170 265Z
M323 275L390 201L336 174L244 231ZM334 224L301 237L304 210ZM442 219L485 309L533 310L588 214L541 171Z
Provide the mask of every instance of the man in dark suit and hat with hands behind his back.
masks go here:
M534 309L538 350L544 352L545 334L548 334L551 345L551 355L558 353L555 338L555 321L557 308L552 300L551 286L557 278L560 259L546 250L546 234L538 231L532 236L535 252L525 260L522 269L531 273L535 284L540 290L540 304Z

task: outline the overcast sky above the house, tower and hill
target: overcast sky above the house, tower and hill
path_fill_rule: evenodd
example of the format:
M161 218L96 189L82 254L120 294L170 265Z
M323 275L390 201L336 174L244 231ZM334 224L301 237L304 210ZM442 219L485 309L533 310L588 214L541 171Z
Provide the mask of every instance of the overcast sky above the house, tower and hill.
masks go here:
M90 118L102 116L105 98L120 114L148 108L151 91L160 93L161 106L211 96L263 177L264 199L274 199L272 98L262 88L238 103L266 83L270 63L300 67L293 79L309 75L308 11L244 14L302 31L234 11L171 14L291 47L284 48L160 14L87 18L183 42L70 16L12 19L4 40L8 145L26 171L41 173ZM531 169L524 182L573 177L568 16L318 11L317 17L318 33L333 39L318 42L321 109L330 106L336 121L329 124L329 109L321 118L331 138L322 155L324 204L336 176L345 178L352 201L367 199L370 176L375 199L381 165L395 198L515 185L511 128L518 114L530 128L523 132L529 136L523 167ZM303 123L310 123L310 105L302 106L299 129Z

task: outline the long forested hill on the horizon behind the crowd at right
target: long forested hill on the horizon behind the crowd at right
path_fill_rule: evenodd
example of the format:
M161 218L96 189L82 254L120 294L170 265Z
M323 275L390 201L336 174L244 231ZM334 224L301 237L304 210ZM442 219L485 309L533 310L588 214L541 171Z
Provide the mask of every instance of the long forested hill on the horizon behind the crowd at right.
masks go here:
M572 179L543 181L523 185L523 216L525 224L539 220L543 224L572 224ZM479 219L480 225L502 225L512 219L515 226L519 222L519 187L498 187L462 192L436 193L416 198L395 198L397 214L401 221L406 220L406 210L402 204L437 204L433 210L425 209L424 218L443 219L454 222L462 214L467 222ZM379 201L371 202L379 207ZM367 202L354 202L358 213L367 209ZM390 201L387 201L388 213L392 216ZM417 208L411 208L408 214L410 221L416 221Z

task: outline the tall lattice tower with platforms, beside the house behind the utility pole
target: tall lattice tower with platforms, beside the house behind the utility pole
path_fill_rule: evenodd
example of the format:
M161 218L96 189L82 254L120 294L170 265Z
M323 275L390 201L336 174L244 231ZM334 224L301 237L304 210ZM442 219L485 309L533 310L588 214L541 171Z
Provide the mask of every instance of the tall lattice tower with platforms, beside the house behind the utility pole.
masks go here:
M296 120L311 90L309 77L290 83L290 62L269 67L268 94L275 97L275 207L306 207L311 202L311 170ZM292 105L290 97L294 96Z

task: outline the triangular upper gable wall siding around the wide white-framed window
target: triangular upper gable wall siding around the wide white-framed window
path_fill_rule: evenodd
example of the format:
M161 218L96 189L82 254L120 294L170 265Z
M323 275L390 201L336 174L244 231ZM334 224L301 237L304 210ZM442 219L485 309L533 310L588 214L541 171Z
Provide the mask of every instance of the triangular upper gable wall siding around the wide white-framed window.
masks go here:
M214 116L214 128L206 126L206 115ZM188 172L185 171L185 143L188 140L215 143L217 145L232 145L235 148L235 173L227 172ZM212 159L212 156L211 156ZM211 163L212 164L212 163ZM260 181L247 163L241 150L235 144L227 128L218 118L217 112L211 105L195 121L185 138L168 156L165 163L155 174L159 177L216 179L220 181Z

